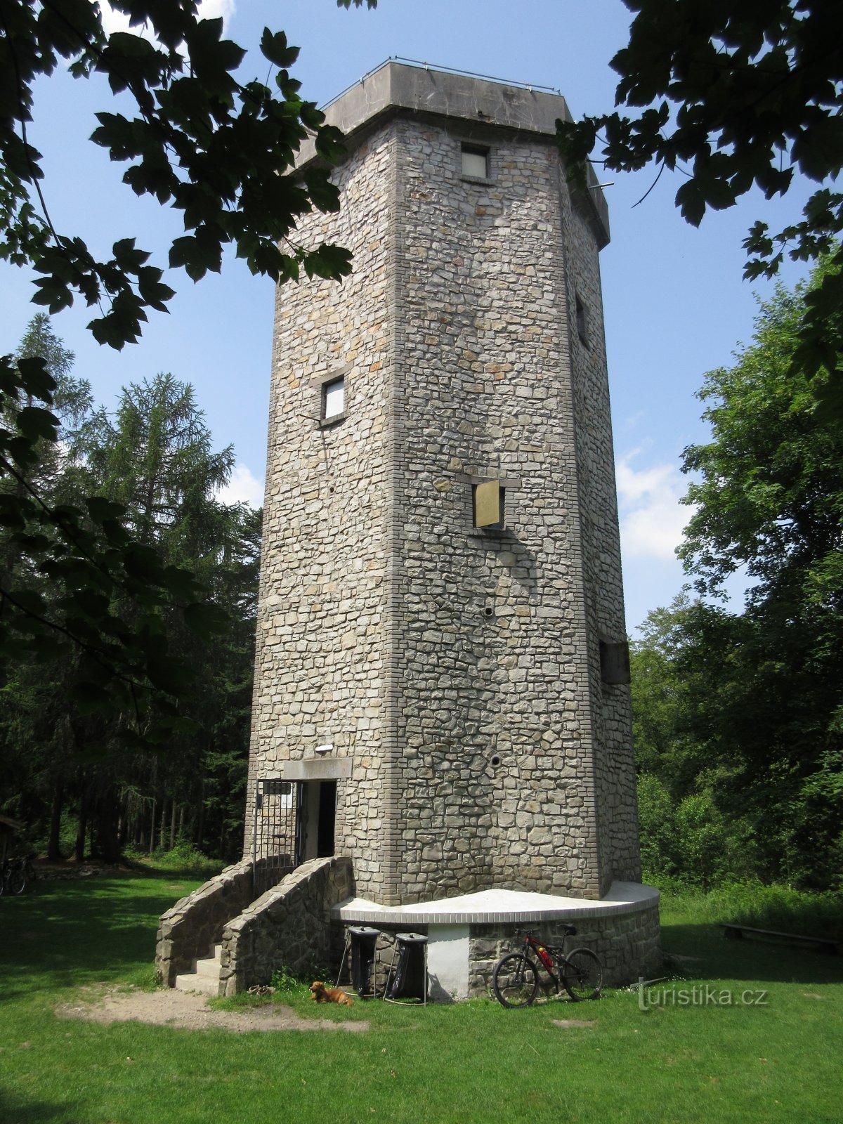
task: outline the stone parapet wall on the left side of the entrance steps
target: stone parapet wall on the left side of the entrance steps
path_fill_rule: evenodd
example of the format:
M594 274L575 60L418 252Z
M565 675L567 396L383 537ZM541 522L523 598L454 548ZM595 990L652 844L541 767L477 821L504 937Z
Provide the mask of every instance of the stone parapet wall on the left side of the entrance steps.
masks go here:
M210 954L225 923L252 900L252 862L244 859L209 879L161 915L155 946L155 970L167 987L180 972L193 971L196 961Z

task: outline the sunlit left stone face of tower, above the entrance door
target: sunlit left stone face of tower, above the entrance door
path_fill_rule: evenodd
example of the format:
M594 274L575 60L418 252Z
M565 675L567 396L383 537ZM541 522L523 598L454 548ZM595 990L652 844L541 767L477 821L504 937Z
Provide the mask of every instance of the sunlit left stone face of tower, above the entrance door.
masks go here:
M255 660L246 846L254 780L315 746L351 758L337 788L335 849L352 853L361 891L382 896L388 373L391 347L389 133L338 171L341 215L301 236L347 246L343 285L279 289ZM321 380L345 378L346 420L320 426Z

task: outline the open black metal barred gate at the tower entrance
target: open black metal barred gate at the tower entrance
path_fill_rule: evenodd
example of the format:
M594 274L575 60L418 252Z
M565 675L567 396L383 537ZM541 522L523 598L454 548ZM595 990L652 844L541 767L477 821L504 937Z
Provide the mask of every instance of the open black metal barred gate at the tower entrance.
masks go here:
M252 889L259 897L299 865L301 855L300 781L265 777L255 782L252 836Z

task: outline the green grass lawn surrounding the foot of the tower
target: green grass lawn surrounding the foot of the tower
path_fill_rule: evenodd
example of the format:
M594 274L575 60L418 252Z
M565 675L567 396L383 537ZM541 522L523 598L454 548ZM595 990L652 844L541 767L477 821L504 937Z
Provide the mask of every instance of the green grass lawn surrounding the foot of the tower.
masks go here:
M681 961L686 979L645 992L661 1000L664 988L683 988L687 1006L679 991L676 1005L645 1010L634 991L528 1010L486 1000L317 1009L293 999L311 1017L369 1019L362 1034L56 1017L82 987L151 986L157 916L194 885L173 874L92 878L0 899L3 1124L840 1124L843 958L727 942L699 898L670 899L662 915L665 951L698 959ZM701 998L706 985L718 997L764 991L765 1001L695 1005L691 989ZM595 1026L561 1030L554 1018Z

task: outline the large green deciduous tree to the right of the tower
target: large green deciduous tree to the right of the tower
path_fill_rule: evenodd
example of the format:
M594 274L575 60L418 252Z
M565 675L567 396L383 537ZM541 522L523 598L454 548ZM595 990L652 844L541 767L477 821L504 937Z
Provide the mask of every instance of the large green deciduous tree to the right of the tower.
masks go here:
M817 417L794 360L806 294L780 289L735 364L706 377L711 439L683 459L697 479L680 554L701 595L742 570L746 606L651 614L633 700L640 765L674 801L705 797L688 806L698 843L714 807L759 873L828 887L843 855L843 425Z

